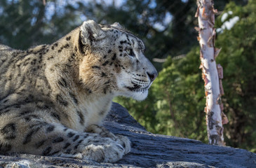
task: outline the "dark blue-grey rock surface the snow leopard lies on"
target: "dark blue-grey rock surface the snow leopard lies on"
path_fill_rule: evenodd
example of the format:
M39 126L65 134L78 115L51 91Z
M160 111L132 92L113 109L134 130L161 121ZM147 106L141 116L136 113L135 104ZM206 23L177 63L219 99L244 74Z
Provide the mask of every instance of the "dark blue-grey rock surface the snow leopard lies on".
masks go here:
M114 134L126 135L132 142L130 153L114 164L13 154L0 155L0 167L256 167L256 154L243 149L151 134L116 103L105 120L105 127Z

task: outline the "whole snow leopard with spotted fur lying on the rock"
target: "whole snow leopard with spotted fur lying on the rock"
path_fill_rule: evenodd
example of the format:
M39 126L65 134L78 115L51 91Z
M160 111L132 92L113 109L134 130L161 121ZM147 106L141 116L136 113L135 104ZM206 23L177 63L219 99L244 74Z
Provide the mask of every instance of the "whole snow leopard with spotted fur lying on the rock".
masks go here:
M102 127L112 99L142 100L156 78L142 41L89 20L50 45L0 45L0 154L116 162L128 138Z

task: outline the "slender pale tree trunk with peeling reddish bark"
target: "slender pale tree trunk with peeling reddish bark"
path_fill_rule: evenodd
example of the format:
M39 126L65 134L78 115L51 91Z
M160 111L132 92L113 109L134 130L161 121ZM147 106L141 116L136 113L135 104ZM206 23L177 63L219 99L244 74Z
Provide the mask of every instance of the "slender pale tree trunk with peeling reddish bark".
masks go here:
M209 144L224 146L223 127L227 123L227 117L222 112L223 105L221 95L222 89L222 66L216 66L215 58L220 49L215 48L215 13L212 0L197 0L196 17L199 32L198 41L200 43L200 59L202 77L205 83L206 93L206 124Z

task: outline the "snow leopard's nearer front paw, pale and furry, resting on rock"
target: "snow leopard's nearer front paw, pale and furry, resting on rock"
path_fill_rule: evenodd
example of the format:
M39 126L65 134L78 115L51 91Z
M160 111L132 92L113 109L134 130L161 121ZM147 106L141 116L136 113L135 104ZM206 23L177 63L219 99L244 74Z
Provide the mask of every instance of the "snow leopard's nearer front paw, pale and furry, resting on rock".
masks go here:
M86 146L81 155L83 159L97 162L116 162L125 154L125 149L118 143L90 144Z

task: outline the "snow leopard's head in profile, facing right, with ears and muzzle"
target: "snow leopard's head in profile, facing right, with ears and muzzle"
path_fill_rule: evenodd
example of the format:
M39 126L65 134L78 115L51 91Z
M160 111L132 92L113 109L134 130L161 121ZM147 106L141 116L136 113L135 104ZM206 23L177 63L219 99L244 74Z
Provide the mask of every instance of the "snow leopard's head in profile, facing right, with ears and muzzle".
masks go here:
M80 50L84 55L80 78L86 87L91 81L90 87L103 94L145 99L157 71L144 56L140 38L118 23L98 25L88 20L80 30Z

